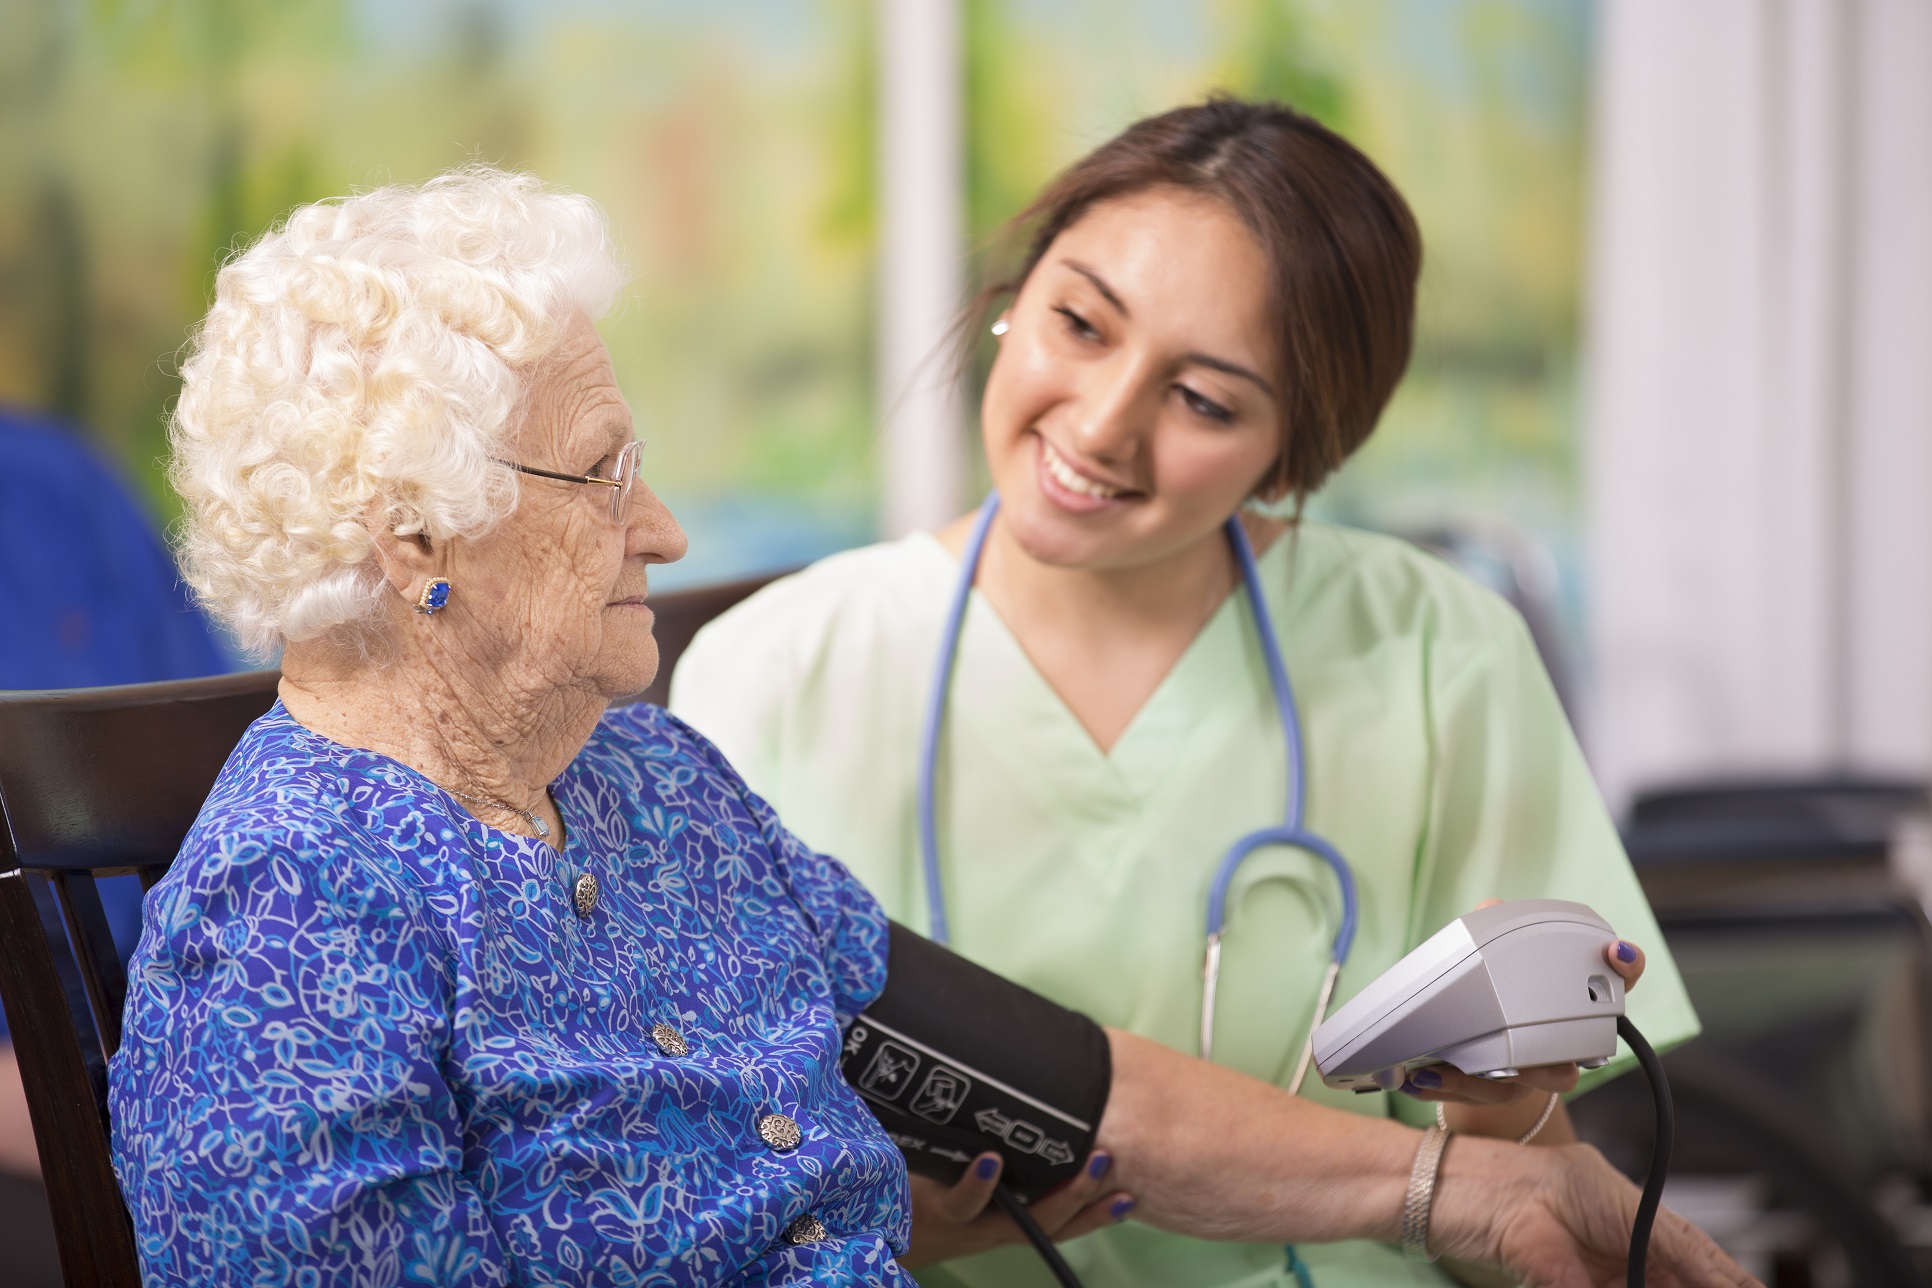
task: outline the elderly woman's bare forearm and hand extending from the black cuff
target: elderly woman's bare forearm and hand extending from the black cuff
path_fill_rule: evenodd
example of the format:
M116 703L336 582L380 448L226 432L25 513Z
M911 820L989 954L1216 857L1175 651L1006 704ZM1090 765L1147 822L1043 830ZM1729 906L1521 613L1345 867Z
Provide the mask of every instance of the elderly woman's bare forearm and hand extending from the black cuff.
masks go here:
M1099 1143L1134 1218L1250 1244L1395 1242L1420 1143L1414 1128L1287 1095L1219 1064L1107 1029L1113 1091ZM1588 1145L1524 1149L1451 1137L1430 1251L1536 1284L1611 1284L1636 1188ZM1694 1226L1660 1213L1652 1284L1752 1282Z

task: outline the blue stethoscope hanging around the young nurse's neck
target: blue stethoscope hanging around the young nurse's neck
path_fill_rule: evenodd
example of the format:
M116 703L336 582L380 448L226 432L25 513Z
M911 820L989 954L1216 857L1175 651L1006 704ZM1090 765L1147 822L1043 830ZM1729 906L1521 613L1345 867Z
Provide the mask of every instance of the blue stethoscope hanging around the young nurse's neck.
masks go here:
M966 550L960 554L960 577L952 587L952 602L947 606L947 624L939 643L939 664L933 670L931 699L925 707L925 734L920 740L920 859L925 867L925 906L931 921L929 935L937 942L947 942L947 896L939 884L939 828L933 807L933 778L939 765L939 728L947 714L947 695L952 687L952 662L958 658L960 624L966 620L966 601L972 597L974 575L980 570L980 554L985 548L985 535L999 514L999 492L985 498L974 519ZM1238 518L1227 521L1227 543L1235 548L1235 562L1240 564L1240 581L1248 587L1248 606L1254 610L1254 633L1262 639L1262 657L1267 660L1267 678L1275 689L1275 711L1281 714L1281 734L1287 742L1289 765L1289 807L1281 826L1264 826L1248 832L1221 857L1213 884L1208 886L1208 958L1202 964L1202 1058L1213 1054L1213 1006L1215 989L1221 983L1221 937L1227 933L1227 892L1235 882L1235 873L1250 854L1264 846L1289 846L1306 850L1335 873L1341 888L1341 925L1329 950L1327 975L1321 979L1321 994L1316 1000L1316 1018L1308 1025L1308 1041L1302 1045L1300 1064L1294 1068L1294 1081L1289 1093L1302 1087L1308 1076L1308 1062L1314 1054L1314 1031L1327 1018L1329 998L1335 994L1335 977L1341 975L1349 948L1354 944L1354 873L1335 846L1302 826L1302 799L1306 788L1306 769L1302 765L1302 722L1294 711L1294 689L1289 687L1289 668L1281 664L1281 643L1275 639L1275 624L1267 616L1267 601L1262 597L1262 575L1254 566L1254 546Z

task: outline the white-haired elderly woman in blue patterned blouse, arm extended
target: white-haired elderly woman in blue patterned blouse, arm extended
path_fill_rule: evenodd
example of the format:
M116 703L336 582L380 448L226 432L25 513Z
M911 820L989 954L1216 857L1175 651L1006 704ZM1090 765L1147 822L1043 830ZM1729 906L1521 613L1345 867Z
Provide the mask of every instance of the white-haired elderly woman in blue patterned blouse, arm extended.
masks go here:
M184 558L282 693L147 904L110 1081L149 1284L910 1282L838 1072L877 904L611 707L684 552L591 324L618 282L591 203L491 170L301 209L218 278ZM1395 1236L1416 1132L1109 1043L1043 1224ZM1588 1149L1459 1141L1439 1184L1432 1251L1617 1273L1634 1191ZM1667 1215L1652 1265L1743 1282Z

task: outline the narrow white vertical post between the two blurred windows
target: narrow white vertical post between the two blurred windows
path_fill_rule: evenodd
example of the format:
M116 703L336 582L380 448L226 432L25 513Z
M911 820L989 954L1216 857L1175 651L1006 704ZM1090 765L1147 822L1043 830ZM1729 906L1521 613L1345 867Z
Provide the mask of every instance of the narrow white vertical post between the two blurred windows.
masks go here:
M879 0L879 417L889 537L966 504L945 340L964 297L960 0Z

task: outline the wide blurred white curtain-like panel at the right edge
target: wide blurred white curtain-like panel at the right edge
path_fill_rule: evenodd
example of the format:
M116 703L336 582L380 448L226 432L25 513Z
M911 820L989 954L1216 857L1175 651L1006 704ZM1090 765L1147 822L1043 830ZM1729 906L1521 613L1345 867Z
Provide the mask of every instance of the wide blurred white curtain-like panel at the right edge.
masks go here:
M1932 774L1932 6L1619 0L1598 58L1598 778Z

